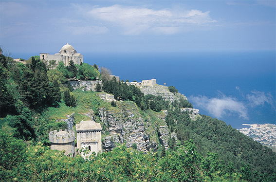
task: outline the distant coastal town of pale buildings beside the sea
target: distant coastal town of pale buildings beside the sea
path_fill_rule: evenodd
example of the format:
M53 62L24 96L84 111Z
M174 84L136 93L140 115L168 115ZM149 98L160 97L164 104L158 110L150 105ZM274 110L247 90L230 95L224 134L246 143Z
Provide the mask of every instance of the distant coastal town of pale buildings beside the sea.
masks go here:
M272 146L276 149L276 125L273 124L242 124L250 126L250 128L238 129L239 132L249 136L254 141L257 141L265 146ZM274 150L275 151L275 150Z

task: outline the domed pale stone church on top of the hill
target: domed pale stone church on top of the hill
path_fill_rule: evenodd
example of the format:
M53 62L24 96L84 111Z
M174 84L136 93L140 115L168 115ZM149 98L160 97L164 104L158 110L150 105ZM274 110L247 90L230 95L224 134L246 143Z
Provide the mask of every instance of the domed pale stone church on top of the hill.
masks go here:
M57 62L63 61L65 66L69 66L70 60L73 60L75 64L83 62L83 55L77 53L74 47L68 43L64 45L59 53L56 53L55 55L49 55L49 53L40 53L39 55L41 60L56 60Z

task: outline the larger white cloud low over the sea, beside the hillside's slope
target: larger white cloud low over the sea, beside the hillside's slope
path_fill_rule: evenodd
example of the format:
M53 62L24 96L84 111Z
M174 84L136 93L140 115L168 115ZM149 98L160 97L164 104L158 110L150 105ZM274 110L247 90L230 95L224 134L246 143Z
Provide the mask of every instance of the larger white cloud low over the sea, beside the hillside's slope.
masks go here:
M211 115L221 118L227 114L238 114L240 118L249 119L247 109L242 102L233 97L227 97L222 94L218 98L209 98L206 96L192 96L189 100L196 107L206 109Z

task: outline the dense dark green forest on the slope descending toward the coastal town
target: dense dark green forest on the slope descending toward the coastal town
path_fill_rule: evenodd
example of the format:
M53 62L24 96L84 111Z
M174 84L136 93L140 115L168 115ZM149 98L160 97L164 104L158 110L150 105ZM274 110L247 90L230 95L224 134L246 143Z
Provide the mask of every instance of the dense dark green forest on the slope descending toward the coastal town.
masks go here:
M231 166L231 171L243 175L242 179L254 182L276 180L276 153L225 122L205 115L192 121L187 112L175 108L168 110L166 123L171 131L176 131L181 144L193 140L204 157L210 152L217 153L219 165Z

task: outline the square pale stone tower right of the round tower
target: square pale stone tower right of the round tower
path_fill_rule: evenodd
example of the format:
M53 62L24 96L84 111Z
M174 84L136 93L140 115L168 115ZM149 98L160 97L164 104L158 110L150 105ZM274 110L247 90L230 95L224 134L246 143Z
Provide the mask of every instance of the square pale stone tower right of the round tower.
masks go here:
M92 152L96 154L102 151L102 127L93 121L81 121L76 125L77 148L87 149L88 154L81 152L81 155L89 156Z

